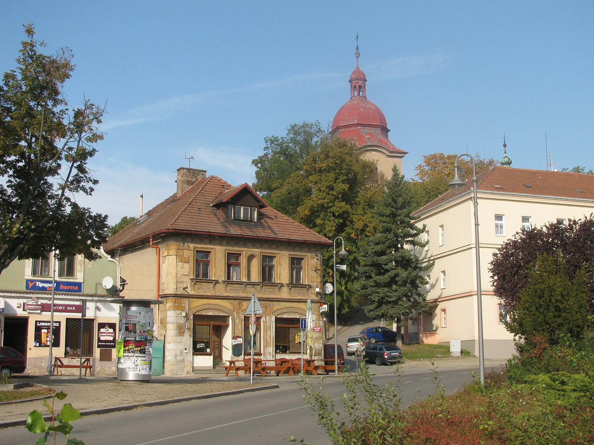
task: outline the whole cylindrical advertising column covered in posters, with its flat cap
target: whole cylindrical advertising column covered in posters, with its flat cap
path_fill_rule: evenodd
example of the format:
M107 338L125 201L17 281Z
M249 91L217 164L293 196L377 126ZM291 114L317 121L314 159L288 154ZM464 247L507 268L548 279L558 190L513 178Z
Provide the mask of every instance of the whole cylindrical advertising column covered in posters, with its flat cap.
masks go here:
M163 301L126 298L113 302L122 305L116 341L118 380L149 382L154 339L151 305L161 304Z

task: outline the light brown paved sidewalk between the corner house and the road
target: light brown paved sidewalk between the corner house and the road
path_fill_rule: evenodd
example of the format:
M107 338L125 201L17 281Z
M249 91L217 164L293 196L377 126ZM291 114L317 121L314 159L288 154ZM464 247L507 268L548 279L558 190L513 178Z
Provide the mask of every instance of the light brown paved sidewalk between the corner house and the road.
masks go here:
M79 410L91 408L107 408L109 406L128 405L129 403L151 402L152 400L173 399L213 392L230 391L250 387L249 382L235 382L229 379L192 381L190 379L168 379L165 382L118 382L115 379L102 377L91 379L41 378L34 383L46 384L68 394L64 400L55 401L55 409L59 411L64 403L71 403ZM261 386L257 383L253 386ZM45 414L41 400L34 402L11 403L0 405L0 421L23 419L39 409Z

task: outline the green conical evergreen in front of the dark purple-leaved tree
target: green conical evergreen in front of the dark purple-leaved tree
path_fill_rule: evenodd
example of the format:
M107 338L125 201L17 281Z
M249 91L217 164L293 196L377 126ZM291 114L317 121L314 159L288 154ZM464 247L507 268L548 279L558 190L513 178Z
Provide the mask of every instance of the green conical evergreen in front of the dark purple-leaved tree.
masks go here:
M527 341L542 336L557 344L563 336L579 340L588 326L587 275L567 275L560 253L538 255L528 272L526 288L509 311L507 329Z

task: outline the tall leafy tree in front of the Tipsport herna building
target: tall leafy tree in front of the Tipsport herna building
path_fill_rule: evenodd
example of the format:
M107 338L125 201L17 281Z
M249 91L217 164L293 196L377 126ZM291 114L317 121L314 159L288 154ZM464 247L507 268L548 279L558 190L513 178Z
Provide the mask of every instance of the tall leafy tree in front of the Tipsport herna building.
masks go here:
M34 40L31 23L24 28L17 68L0 86L0 272L54 249L95 259L107 239L107 217L73 199L97 184L87 162L103 139L104 110L87 99L68 107L62 87L74 71L71 51L40 53L45 43Z

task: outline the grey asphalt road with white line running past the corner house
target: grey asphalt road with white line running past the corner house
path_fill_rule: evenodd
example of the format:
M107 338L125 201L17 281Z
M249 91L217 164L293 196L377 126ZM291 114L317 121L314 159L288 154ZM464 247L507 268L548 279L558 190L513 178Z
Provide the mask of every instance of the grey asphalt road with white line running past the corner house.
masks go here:
M375 365L369 368L373 372ZM454 391L472 381L474 370L440 371L441 383L448 392ZM388 380L395 383L396 377L374 377L380 385ZM305 403L301 387L296 382L279 384L278 389L261 392L84 417L73 423L72 437L86 445L249 445L287 444L285 436L293 435L312 445L330 444ZM333 398L344 392L336 377L325 379L324 387ZM405 403L423 398L434 390L431 373L400 377L400 390ZM0 430L0 444L29 445L34 441L34 435L24 427Z

